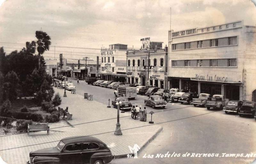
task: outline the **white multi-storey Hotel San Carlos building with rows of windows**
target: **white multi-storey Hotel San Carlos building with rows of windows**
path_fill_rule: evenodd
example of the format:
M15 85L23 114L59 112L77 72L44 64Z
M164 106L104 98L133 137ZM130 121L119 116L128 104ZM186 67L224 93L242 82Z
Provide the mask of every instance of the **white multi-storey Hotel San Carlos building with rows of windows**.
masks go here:
M255 26L243 21L169 31L169 87L255 101L255 41Z

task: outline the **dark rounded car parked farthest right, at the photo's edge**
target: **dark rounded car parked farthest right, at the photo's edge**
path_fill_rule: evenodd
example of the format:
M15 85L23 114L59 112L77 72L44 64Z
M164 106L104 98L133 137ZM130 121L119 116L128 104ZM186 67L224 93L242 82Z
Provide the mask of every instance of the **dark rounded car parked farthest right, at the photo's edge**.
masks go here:
M245 101L241 106L241 108L238 110L238 114L239 116L251 115L252 117L254 117L255 111L256 111L256 102Z

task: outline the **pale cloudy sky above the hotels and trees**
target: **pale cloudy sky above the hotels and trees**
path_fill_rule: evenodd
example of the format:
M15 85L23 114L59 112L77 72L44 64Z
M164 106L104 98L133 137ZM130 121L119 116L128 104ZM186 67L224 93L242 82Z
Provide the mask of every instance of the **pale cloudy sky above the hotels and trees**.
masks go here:
M0 0L0 47L20 50L42 30L52 38L44 58L95 60L110 44L140 48L150 37L168 45L170 20L174 31L237 20L255 26L256 9L249 0Z

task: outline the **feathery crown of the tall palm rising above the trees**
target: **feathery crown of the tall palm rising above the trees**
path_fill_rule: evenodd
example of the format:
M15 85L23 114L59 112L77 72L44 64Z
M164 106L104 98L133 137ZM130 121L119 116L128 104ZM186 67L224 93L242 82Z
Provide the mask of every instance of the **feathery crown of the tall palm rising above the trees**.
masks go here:
M36 44L38 55L42 55L44 51L49 50L51 45L51 37L43 31L36 31Z

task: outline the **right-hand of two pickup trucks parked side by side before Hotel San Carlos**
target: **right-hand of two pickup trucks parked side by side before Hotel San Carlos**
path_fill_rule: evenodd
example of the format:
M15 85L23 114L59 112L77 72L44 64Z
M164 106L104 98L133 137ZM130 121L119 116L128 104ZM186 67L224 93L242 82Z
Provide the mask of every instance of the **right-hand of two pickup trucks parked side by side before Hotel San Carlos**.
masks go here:
M226 105L226 101L224 99L223 95L220 94L214 94L212 98L208 98L205 102L205 107L207 110L210 110L210 108L218 108L220 110L223 110L223 107Z

